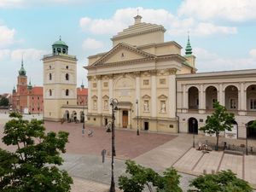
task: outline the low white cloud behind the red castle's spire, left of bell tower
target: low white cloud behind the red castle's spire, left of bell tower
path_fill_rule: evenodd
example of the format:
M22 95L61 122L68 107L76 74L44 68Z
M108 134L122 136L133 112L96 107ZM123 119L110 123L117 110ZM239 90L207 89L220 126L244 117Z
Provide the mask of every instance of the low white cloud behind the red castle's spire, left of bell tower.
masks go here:
M15 49L10 56L13 61L21 61L22 55L24 61L39 61L47 51L39 49Z

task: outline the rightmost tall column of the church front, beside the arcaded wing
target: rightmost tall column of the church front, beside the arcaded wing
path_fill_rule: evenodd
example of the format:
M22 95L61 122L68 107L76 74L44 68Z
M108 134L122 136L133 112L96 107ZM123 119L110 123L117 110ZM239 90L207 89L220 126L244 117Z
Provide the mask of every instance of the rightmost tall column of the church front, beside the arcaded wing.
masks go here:
M168 102L169 102L169 118L176 117L176 75L177 69L172 68L169 70L169 92L168 92Z

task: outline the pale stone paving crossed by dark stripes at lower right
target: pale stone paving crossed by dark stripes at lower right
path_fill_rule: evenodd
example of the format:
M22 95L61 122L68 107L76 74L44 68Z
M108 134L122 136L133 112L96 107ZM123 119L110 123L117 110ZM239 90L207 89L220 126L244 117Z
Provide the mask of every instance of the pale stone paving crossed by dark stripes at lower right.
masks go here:
M230 169L237 177L256 184L256 156L224 154L223 151L211 151L203 154L195 148L190 148L183 157L173 165L177 171L200 175Z

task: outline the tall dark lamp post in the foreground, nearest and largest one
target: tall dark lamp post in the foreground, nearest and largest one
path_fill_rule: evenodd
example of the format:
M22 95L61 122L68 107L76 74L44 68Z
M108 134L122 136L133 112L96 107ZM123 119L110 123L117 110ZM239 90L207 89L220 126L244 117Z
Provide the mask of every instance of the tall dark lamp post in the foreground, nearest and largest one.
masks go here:
M111 184L109 192L115 192L114 187L114 180L113 180L113 156L115 156L115 148L114 148L114 111L118 110L119 101L117 99L110 100L110 106L112 108L112 124L111 124L111 131L112 131L112 154L111 154Z

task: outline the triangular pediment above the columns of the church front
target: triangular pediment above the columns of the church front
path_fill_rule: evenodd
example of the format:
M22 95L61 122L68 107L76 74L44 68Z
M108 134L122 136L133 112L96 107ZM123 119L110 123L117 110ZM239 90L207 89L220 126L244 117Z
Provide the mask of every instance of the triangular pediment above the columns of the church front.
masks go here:
M148 58L154 58L155 55L144 52L140 49L132 47L131 45L120 43L117 44L113 49L108 51L107 54L103 55L93 66L100 66L107 63L116 63L123 61L136 61Z

